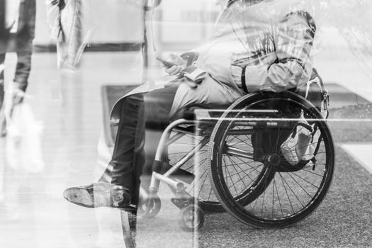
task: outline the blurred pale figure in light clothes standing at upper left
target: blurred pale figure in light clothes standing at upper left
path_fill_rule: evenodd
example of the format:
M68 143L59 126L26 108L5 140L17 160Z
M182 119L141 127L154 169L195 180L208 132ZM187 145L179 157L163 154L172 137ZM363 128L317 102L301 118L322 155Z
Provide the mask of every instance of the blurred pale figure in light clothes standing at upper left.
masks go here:
M62 100L65 137L69 154L74 154L81 142L76 127L82 120L81 94L84 92L79 73L80 59L92 32L87 20L89 0L46 0L50 38L57 45L57 67L60 69L57 91ZM84 15L83 15L84 13ZM69 167L77 161L69 157Z

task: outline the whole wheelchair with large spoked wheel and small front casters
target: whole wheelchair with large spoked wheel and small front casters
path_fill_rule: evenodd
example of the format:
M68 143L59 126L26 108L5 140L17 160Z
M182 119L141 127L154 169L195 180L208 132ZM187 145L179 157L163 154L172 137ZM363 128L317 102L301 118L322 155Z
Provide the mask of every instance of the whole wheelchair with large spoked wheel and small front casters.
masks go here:
M308 127L299 125L304 120ZM283 143L303 128L310 130L310 141L284 151ZM309 154L288 159L286 152L298 150ZM159 212L162 181L174 192L171 202L181 210L183 230L203 227L204 211L223 210L252 227L289 227L325 198L334 145L326 119L306 98L261 91L228 108L196 108L170 123L152 169L150 196L139 205L143 218Z

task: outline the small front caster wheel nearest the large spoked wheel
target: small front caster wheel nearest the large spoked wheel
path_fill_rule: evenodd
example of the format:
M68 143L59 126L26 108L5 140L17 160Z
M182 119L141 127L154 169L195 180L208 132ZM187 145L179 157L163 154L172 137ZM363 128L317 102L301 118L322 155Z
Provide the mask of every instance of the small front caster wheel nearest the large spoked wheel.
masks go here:
M197 205L191 204L182 208L179 213L179 226L186 232L199 230L204 224L204 213Z

